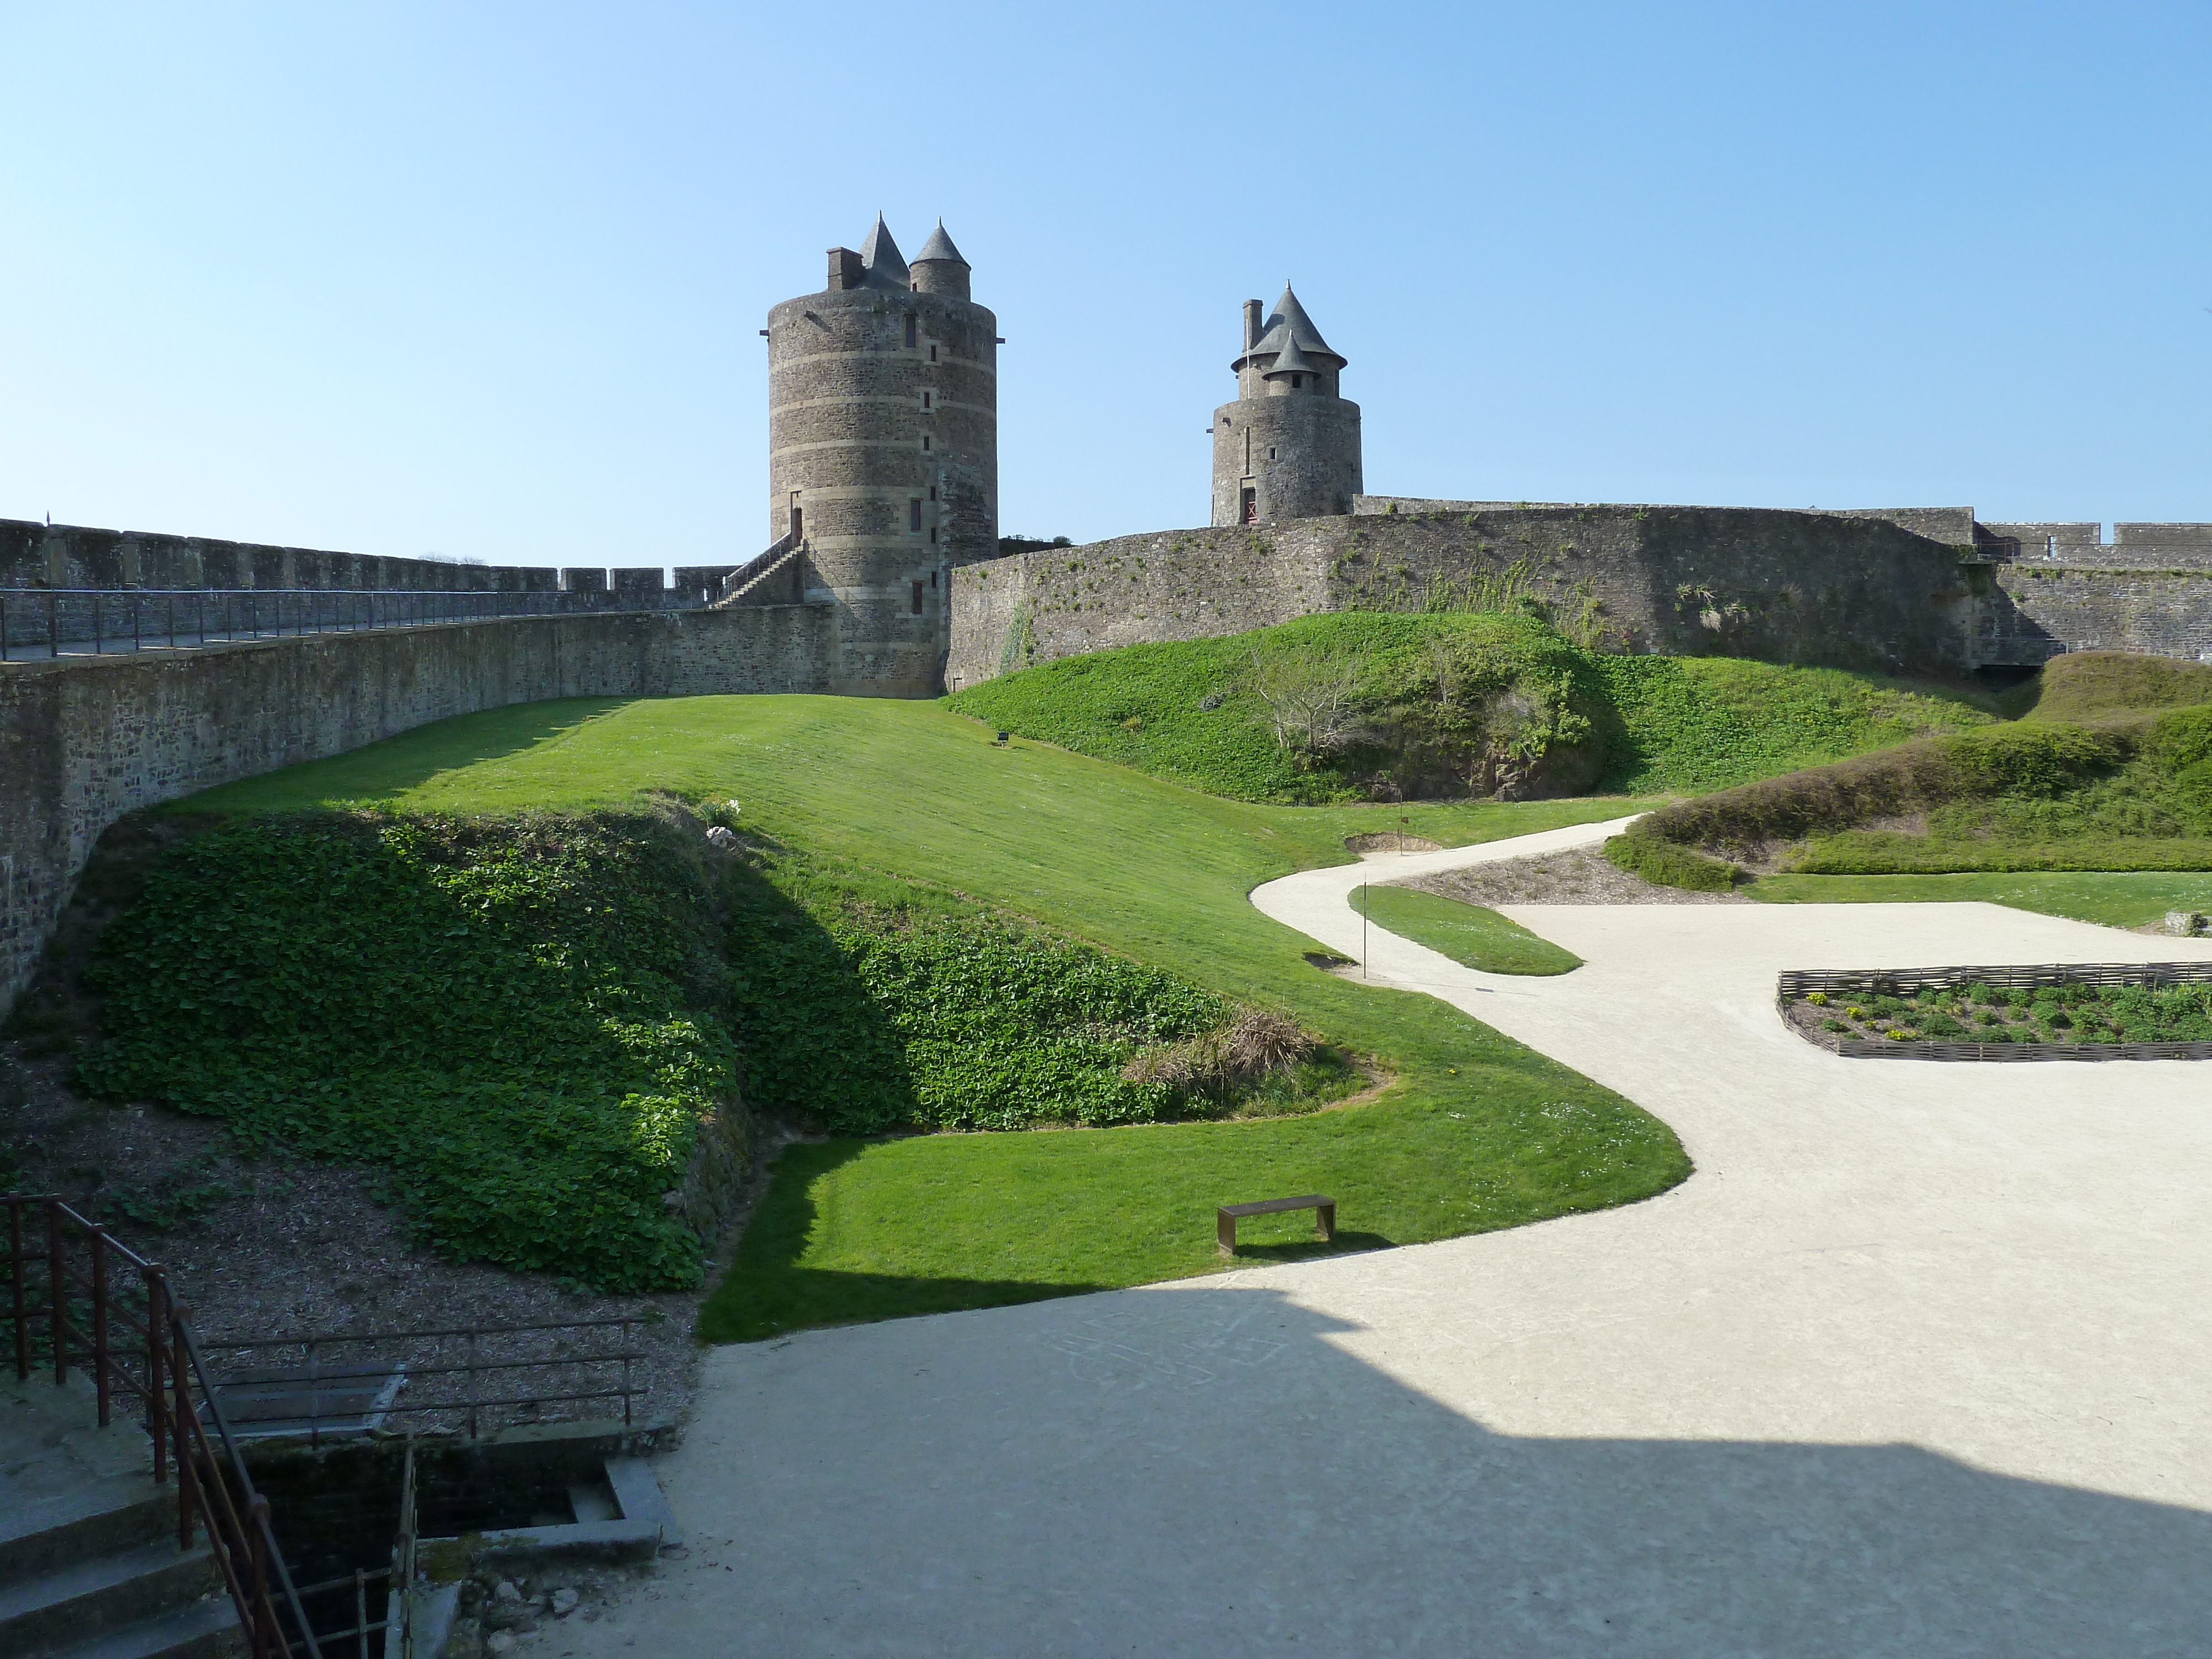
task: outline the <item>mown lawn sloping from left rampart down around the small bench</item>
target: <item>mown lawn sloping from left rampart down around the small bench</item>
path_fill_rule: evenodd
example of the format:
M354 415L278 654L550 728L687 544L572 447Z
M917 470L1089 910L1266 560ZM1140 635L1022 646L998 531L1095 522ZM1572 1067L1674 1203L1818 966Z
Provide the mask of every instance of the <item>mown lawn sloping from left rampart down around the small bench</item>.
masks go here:
M646 792L741 799L750 834L1020 911L1374 1055L1371 1104L1261 1121L792 1148L703 1316L714 1340L1210 1272L1212 1206L1340 1201L1336 1248L1595 1210L1688 1172L1672 1133L1606 1088L1422 995L1316 973L1248 894L1340 863L1398 807L1212 799L1055 748L998 750L933 706L832 697L538 703L422 728L192 801L403 812L597 810ZM1464 845L1586 823L1610 801L1409 805ZM748 942L732 938L732 956ZM739 1033L743 1037L743 1033ZM1248 1254L1303 1256L1298 1217Z

